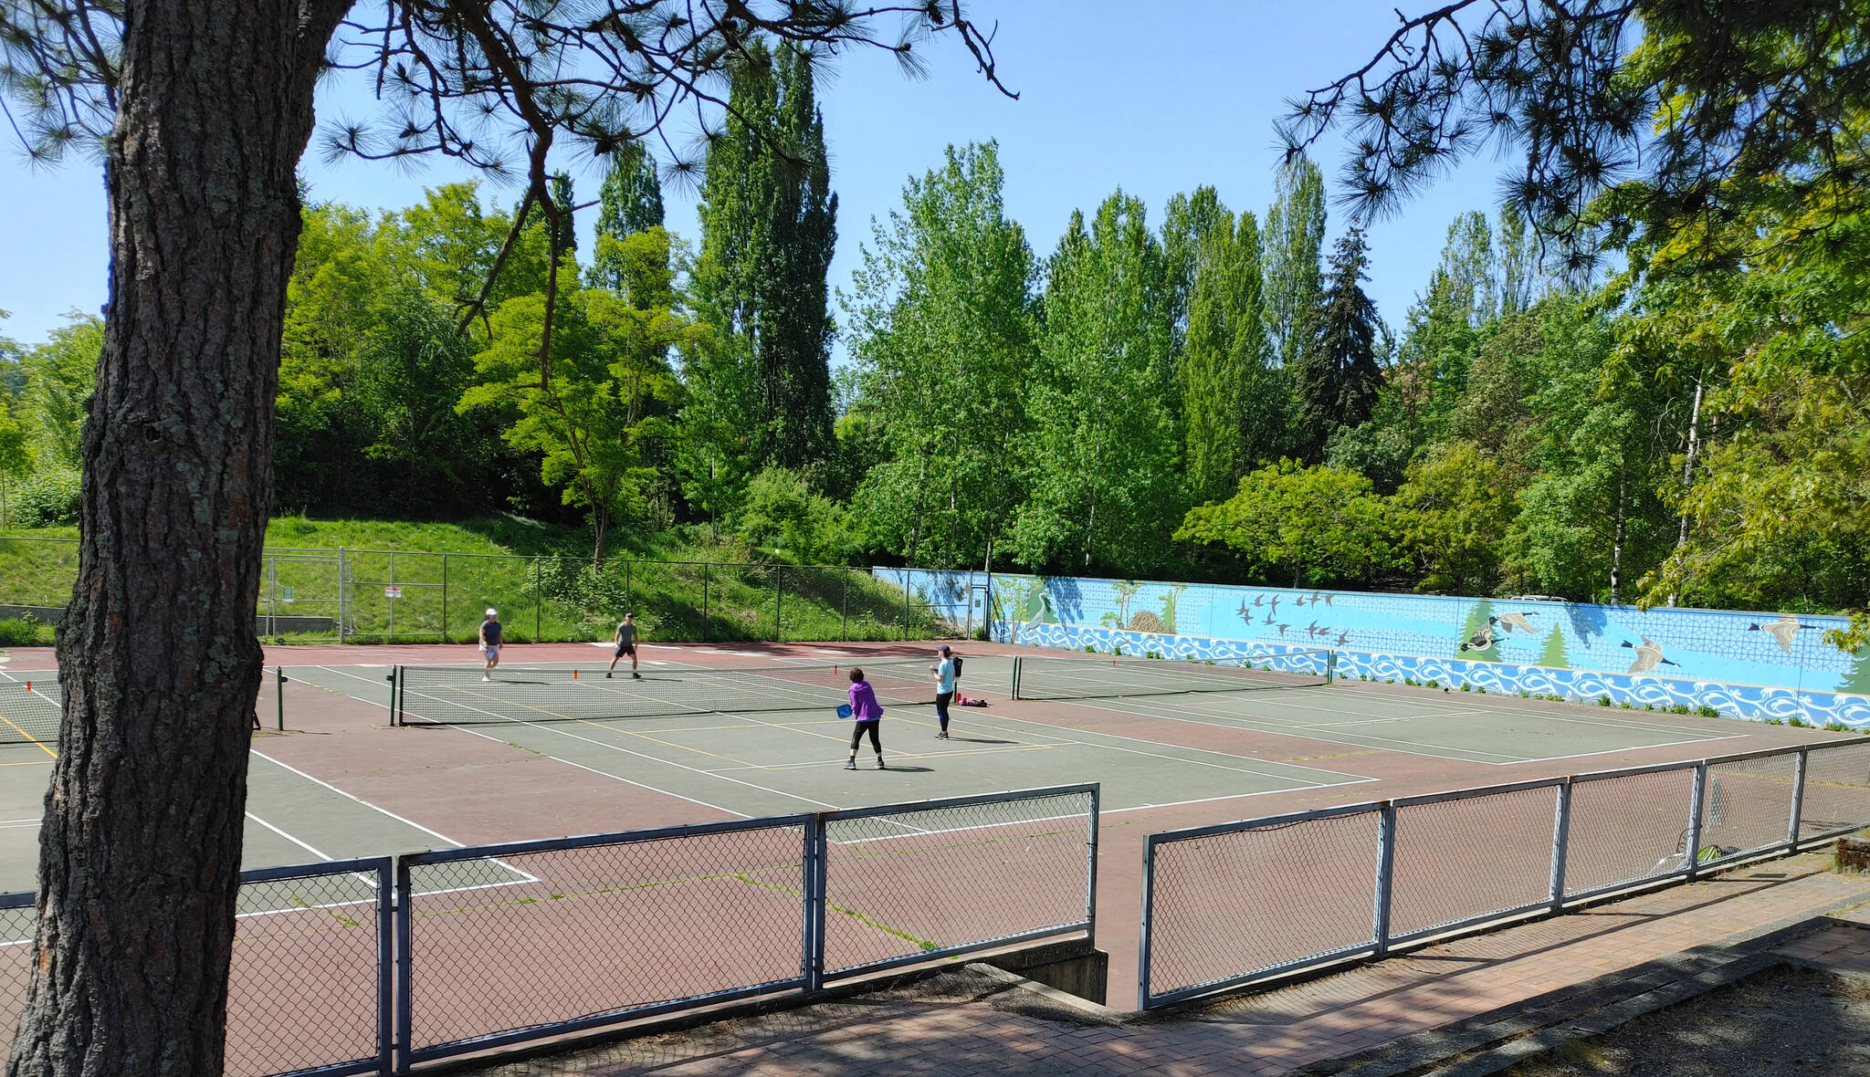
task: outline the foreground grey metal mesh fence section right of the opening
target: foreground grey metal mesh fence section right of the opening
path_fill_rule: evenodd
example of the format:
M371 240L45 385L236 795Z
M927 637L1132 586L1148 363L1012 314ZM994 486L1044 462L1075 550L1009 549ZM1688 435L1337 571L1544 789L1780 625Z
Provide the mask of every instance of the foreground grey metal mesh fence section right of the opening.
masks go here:
M1150 834L1143 1008L1784 854L1870 825L1870 740Z

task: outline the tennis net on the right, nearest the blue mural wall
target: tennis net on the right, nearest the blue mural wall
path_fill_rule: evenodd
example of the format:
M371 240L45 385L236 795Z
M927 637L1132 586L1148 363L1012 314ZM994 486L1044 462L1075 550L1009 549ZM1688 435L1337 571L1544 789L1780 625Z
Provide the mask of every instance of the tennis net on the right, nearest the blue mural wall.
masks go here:
M1014 664L1014 699L1115 699L1184 692L1316 688L1331 682L1331 653L1285 651L1251 658L1045 658Z

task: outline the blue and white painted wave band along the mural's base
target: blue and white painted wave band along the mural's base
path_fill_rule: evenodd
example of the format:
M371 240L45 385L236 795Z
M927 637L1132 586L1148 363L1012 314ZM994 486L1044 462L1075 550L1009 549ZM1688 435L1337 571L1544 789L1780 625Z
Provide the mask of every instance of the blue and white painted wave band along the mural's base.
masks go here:
M1260 658L1313 651L1264 641L1210 639L1202 636L1163 636L1156 632L1128 632L1120 628L1086 628L1077 625L1030 625L995 621L991 638L997 643L1027 647L1055 647L1081 651L1086 645L1100 653L1122 649L1124 654L1158 653L1165 658ZM1608 697L1612 707L1711 707L1726 718L1754 722L1799 718L1814 725L1840 724L1851 729L1870 729L1870 696L1844 692L1799 692L1793 688L1760 688L1750 684L1720 684L1715 681L1679 681L1672 677L1638 677L1629 673L1599 673L1593 669L1550 669L1543 666L1515 666L1507 662L1466 662L1460 658L1417 658L1414 654L1373 654L1365 651L1337 651L1337 677L1371 681L1434 681L1446 688L1468 684L1494 696L1560 696L1573 703L1599 703Z

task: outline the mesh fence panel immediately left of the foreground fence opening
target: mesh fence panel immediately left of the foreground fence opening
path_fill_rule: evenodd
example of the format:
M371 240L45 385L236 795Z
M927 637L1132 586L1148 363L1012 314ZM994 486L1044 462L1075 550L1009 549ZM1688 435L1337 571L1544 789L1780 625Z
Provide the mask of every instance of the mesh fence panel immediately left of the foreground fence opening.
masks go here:
M825 815L825 976L1090 929L1096 785Z

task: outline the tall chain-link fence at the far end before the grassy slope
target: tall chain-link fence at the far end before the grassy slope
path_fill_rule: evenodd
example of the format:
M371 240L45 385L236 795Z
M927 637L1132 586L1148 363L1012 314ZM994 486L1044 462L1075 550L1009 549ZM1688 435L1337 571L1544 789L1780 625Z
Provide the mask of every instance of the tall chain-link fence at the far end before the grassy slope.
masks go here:
M75 540L0 537L0 606L56 621L77 565ZM937 639L985 623L985 574L836 565L269 548L256 626L307 643L466 643L492 608L516 643L604 639L625 613L671 643Z

